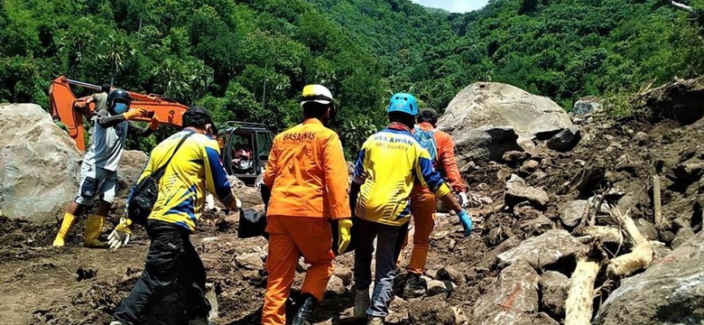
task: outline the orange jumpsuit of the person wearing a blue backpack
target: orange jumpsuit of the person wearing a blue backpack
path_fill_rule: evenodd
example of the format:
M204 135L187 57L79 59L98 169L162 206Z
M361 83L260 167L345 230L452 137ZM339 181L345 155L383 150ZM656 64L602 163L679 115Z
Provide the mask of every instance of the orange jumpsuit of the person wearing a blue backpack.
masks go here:
M427 122L421 123L419 126L423 130L434 129ZM449 180L449 185L456 193L466 191L467 187L462 181L462 176L459 174L459 168L455 161L455 143L452 138L447 133L436 130L433 133L433 139L435 139L435 144L438 148L437 161L434 162L435 169ZM409 273L422 274L423 272L425 261L428 258L429 239L432 228L435 227L435 209L437 209L435 196L430 190L416 183L411 191L411 214L415 232L413 233L411 261L407 268Z

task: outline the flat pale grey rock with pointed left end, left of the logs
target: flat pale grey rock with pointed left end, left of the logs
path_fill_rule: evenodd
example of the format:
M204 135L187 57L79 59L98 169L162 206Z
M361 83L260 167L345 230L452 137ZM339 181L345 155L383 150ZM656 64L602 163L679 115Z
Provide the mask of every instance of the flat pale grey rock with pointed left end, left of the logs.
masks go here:
M498 256L499 266L513 265L525 261L536 270L547 265L571 260L580 252L586 252L587 246L580 243L564 229L551 229L538 237L523 240L521 245Z

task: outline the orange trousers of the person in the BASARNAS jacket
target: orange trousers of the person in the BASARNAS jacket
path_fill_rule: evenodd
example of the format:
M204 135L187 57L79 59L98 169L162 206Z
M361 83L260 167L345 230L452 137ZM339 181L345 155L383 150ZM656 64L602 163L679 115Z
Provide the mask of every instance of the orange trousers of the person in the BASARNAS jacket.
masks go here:
M298 258L303 255L309 264L301 293L309 293L318 301L332 275L332 229L323 218L271 216L267 220L269 256L266 271L269 279L264 295L262 324L286 323L286 299L289 297Z

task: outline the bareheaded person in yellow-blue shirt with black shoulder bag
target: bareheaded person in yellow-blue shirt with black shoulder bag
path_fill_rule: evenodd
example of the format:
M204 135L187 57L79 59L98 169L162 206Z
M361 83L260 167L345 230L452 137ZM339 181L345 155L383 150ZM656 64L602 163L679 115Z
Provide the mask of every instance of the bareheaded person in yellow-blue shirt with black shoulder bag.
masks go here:
M139 178L142 181L166 166L157 200L146 220L151 243L144 272L116 309L115 321L110 325L208 324L206 271L190 235L198 226L206 190L229 209L239 209L242 203L227 181L214 139L217 128L208 110L190 107L182 121L181 132L153 149ZM114 248L129 240L131 224L127 220L110 235Z

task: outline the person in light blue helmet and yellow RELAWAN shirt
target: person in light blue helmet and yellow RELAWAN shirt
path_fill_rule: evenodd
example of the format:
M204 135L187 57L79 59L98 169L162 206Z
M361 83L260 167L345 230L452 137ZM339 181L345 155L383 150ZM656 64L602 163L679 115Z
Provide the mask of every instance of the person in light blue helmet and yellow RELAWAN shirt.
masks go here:
M432 167L431 156L411 132L418 114L418 104L411 94L395 94L386 107L390 125L369 136L355 163L350 189L350 205L355 206L355 319L367 319L370 325L381 325L388 315L394 295L396 260L411 218L409 196L413 182L428 187L434 195L457 212L467 230L471 220L440 172ZM372 253L376 270L372 297Z

